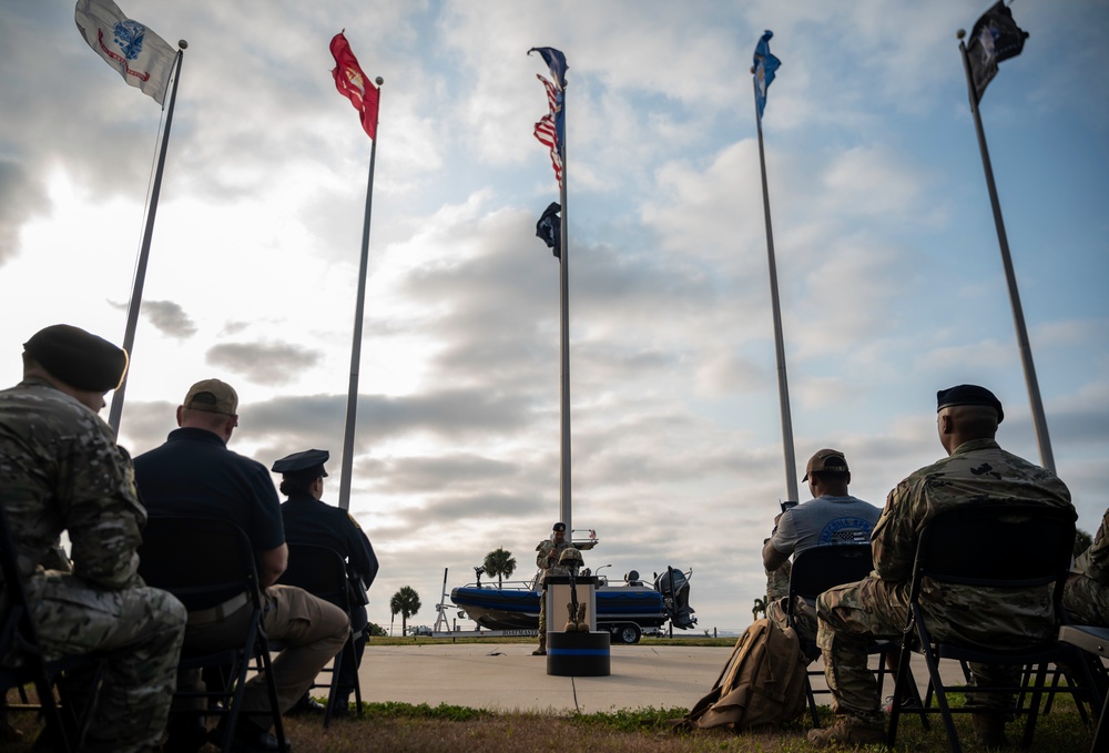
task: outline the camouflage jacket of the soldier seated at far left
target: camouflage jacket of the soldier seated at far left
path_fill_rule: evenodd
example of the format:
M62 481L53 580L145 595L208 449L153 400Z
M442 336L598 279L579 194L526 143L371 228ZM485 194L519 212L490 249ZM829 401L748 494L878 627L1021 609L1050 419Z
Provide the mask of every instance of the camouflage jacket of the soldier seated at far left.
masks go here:
M63 530L74 574L111 590L138 581L146 512L131 458L95 413L42 379L0 391L0 503L32 591L58 567Z

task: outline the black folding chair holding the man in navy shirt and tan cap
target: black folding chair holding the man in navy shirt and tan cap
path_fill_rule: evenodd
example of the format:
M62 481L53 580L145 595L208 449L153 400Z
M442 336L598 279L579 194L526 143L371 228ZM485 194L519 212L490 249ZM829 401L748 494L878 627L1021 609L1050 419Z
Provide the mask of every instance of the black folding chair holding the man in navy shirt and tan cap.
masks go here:
M262 623L265 610L262 589L254 550L246 533L226 519L152 515L143 531L139 557L139 574L146 584L171 592L191 615L236 598L243 598L243 603L250 604L250 624L246 633L235 643L215 651L186 648L181 652L179 671L231 666L226 684L204 691L179 690L174 698L202 698L208 701L207 714L225 718L223 751L227 753L238 723L247 671L253 669L263 675L269 691L269 711L263 713L268 713L273 721L278 750L287 751L277 685L269 661L269 641ZM185 635L187 643L187 629ZM213 705L212 701L220 702L220 705Z

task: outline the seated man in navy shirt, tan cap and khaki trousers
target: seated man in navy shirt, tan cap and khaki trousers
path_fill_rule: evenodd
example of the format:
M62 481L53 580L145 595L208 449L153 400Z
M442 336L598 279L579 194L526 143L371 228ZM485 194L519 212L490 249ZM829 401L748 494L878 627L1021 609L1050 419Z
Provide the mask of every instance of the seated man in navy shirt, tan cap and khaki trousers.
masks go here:
M266 602L262 622L269 639L285 647L273 661L277 701L285 713L343 648L350 622L342 609L307 591L274 584L288 561L281 502L266 467L227 449L227 440L238 426L237 411L238 395L231 385L218 379L197 381L177 407L180 428L171 431L161 447L135 458L135 476L151 515L225 518L250 538ZM197 557L202 552L202 542L197 542ZM186 647L222 648L245 634L250 603L236 603L226 614L208 611L214 613L190 620ZM177 682L180 689L202 686L195 671L182 673ZM235 750L276 747L268 725L254 721L264 719L258 712L269 711L263 678L255 676L246 684L242 710L247 713L235 726ZM171 729L170 743L175 751L197 750L205 742L203 733L203 723L182 723L180 729ZM218 739L224 732L221 729L215 734Z

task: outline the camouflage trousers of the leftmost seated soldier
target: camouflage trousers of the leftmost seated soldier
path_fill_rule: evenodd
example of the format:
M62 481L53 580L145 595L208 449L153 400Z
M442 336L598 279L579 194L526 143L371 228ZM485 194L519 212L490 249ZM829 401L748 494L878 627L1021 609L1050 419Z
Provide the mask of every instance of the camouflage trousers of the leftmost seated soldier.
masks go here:
M48 659L95 651L108 657L85 751L156 749L173 699L185 608L173 596L136 587L106 591L48 571L29 583L39 642ZM77 698L92 678L70 673Z

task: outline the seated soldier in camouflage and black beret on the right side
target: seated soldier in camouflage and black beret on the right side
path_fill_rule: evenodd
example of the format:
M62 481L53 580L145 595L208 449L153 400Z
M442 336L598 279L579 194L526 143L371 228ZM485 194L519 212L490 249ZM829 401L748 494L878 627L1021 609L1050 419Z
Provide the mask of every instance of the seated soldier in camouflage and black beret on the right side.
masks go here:
M919 531L937 512L959 505L1034 502L1074 513L1070 492L1054 474L1003 450L994 440L1004 413L984 387L959 385L937 394L937 429L948 456L897 485L874 527L874 572L857 583L825 591L816 600L817 643L833 694L835 722L812 730L816 746L882 743L884 718L878 689L866 666L866 644L901 634L908 623L908 581ZM1077 517L1077 515L1076 515ZM970 586L922 593L928 627L937 640L988 648L1021 648L1056 630L1051 594L1030 589L999 596ZM1017 684L1011 668L970 664L971 684ZM1018 672L1017 672L1018 674ZM1011 708L999 694L967 693L975 734L986 746L1005 744Z

